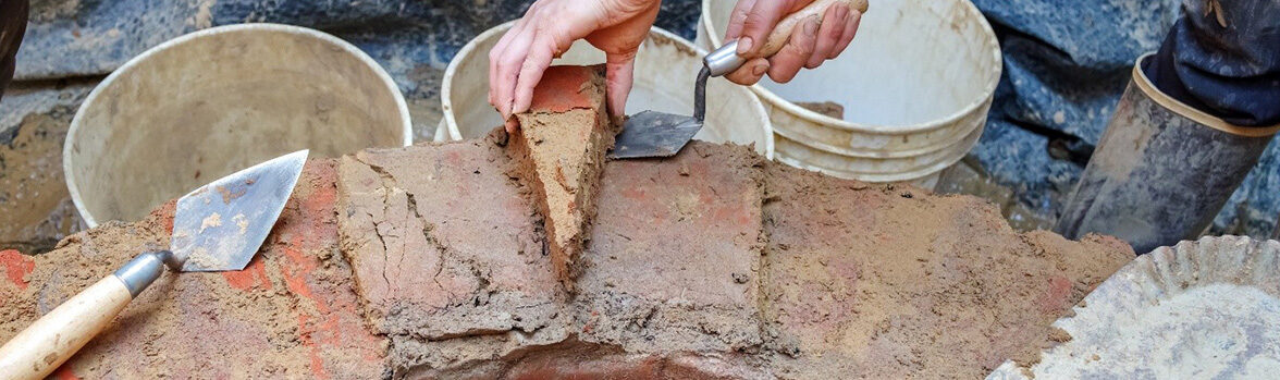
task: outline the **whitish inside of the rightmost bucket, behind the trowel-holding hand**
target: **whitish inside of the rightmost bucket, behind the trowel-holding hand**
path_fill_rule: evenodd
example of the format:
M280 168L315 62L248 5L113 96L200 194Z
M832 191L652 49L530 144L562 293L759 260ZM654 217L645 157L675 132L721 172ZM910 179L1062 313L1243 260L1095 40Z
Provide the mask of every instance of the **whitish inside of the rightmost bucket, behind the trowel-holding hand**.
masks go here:
M723 38L733 0L709 0ZM760 84L791 102L832 101L845 120L913 125L952 116L991 96L1000 47L965 0L872 0L858 36L836 60L801 70L790 83Z

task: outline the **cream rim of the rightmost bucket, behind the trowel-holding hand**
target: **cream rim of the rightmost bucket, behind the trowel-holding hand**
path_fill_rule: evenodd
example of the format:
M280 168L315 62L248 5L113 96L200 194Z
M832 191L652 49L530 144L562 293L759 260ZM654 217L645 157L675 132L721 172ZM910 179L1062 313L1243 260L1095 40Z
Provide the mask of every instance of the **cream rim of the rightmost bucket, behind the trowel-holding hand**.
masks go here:
M701 4L701 15L698 17L699 24L703 24L707 28L707 38L710 40L712 46L723 46L723 44L724 44L723 37L722 37L723 32L717 31L716 26L712 24L712 20L710 20L710 4L712 4L712 1L713 0L703 0L703 4ZM751 91L755 91L755 93L758 96L760 96L762 99L764 99L765 101L768 101L769 105L772 105L772 106L781 107L786 113L796 115L797 118L804 119L805 122L814 123L814 124L818 124L820 127L827 127L827 128L836 128L836 129L842 129L842 131L854 131L854 132L868 133L868 134L904 136L904 134L914 134L914 133L920 133L920 132L934 131L934 129L940 129L940 128L943 128L946 125L950 125L950 124L955 123L956 120L964 118L965 115L969 115L969 114L973 114L973 113L978 111L978 109L982 107L983 102L986 102L988 99L992 99L995 96L995 93L996 93L996 87L1000 84L1000 77L1004 73L1004 55L1001 54L1000 40L996 38L996 32L991 27L991 23L987 22L987 18L982 15L982 12L978 10L978 6L975 6L972 1L968 1L968 0L954 0L954 1L961 3L964 5L964 8L965 8L965 12L969 13L969 15L972 15L974 19L978 20L978 23L982 26L983 31L986 31L984 35L987 36L987 41L989 42L991 46L996 46L996 49L992 51L992 55L995 58L995 64L992 64L992 67L989 69L993 79L989 83L987 83L987 86L983 88L982 96L977 97L974 101L969 102L968 105L965 105L960 110L957 110L957 111L955 111L955 113L952 113L952 114L950 114L950 115L947 115L945 118L940 118L940 119L934 119L934 120L924 122L924 123L909 124L909 125L897 125L897 127L887 125L887 124L854 123L854 122L849 122L849 120L844 120L844 119L836 119L836 118L832 118L832 116L827 116L827 115L812 111L809 109L801 107L801 106L796 105L795 102L791 102L791 101L788 101L786 99L782 99L781 96L773 93L768 88L764 88L764 86L760 86L759 83L750 86ZM874 12L874 9L869 9L868 10L868 13L872 13L872 12Z

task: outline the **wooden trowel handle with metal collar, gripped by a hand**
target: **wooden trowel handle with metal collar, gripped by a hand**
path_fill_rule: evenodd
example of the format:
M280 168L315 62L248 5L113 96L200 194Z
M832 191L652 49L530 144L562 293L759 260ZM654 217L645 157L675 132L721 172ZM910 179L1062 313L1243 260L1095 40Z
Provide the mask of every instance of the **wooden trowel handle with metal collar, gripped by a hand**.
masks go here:
M746 56L737 55L737 40L733 40L708 54L703 59L703 64L707 65L707 70L712 77L719 77L737 70L742 64L754 58L773 56L782 50L782 46L787 45L787 41L791 40L791 32L795 32L797 24L810 17L817 17L820 23L823 15L827 14L827 9L836 4L849 5L850 10L860 13L867 13L868 6L867 0L815 0L809 3L804 9L782 18L777 27L773 28L773 32L769 32L769 38L754 54Z

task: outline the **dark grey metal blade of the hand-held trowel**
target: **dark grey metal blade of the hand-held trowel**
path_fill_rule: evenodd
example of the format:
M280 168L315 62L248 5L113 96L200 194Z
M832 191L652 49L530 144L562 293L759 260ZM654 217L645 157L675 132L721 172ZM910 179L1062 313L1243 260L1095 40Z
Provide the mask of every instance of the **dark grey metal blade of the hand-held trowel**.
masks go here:
M643 111L623 124L609 157L671 157L700 129L703 123L691 116Z

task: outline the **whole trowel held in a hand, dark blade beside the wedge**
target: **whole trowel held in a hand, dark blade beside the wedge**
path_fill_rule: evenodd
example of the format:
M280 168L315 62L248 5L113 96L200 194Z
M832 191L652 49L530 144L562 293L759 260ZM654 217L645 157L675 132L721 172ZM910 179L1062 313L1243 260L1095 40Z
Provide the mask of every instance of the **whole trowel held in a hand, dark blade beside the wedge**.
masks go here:
M760 47L755 56L737 55L737 41L731 41L708 54L703 59L703 69L698 73L698 82L694 84L694 115L672 115L657 111L643 111L632 115L623 124L622 133L618 134L613 151L613 159L641 159L641 157L669 157L680 152L698 131L703 129L707 115L707 79L732 73L742 67L748 60L756 56L773 56L791 38L791 32L796 24L810 17L818 17L819 22L827 9L836 4L846 4L849 9L867 13L867 0L817 0L804 9L788 14Z

